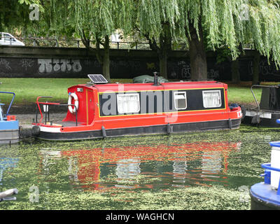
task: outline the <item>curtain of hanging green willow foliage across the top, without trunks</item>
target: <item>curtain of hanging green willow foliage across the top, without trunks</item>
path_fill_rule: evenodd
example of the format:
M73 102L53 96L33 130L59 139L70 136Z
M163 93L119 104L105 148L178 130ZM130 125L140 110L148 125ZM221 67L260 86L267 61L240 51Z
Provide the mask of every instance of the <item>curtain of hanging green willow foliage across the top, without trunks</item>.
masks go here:
M207 48L227 46L232 58L239 45L251 44L261 55L280 66L280 10L276 0L50 0L52 25L63 32L72 26L85 30L93 40L110 36L116 29L160 39L162 22L169 24L173 41L189 45L190 28L203 35ZM65 7L66 6L66 7ZM202 34L199 27L202 26ZM66 28L65 28L66 29ZM66 31L64 30L64 33Z

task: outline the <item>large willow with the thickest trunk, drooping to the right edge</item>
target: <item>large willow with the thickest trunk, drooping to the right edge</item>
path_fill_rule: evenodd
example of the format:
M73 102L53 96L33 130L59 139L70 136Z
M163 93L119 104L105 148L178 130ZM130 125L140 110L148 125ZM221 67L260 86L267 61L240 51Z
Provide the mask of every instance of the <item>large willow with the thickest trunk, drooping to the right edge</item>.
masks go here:
M232 59L239 45L251 44L261 55L280 64L280 10L267 0L178 0L180 36L190 49L192 78L207 78L206 46L228 46Z

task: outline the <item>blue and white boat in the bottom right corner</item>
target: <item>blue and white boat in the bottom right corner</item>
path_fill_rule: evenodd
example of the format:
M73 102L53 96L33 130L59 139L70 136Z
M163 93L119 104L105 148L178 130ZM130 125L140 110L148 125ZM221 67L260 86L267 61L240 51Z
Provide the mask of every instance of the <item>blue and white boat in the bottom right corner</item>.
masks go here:
M280 120L276 120L280 124ZM272 146L271 162L261 165L264 182L251 186L251 210L280 210L280 141L269 142Z

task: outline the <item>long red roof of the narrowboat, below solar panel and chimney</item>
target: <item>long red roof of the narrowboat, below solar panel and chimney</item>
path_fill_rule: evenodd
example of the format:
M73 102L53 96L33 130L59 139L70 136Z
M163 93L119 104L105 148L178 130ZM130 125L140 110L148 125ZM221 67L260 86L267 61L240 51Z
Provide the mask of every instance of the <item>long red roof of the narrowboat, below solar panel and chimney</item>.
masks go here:
M227 84L218 81L190 81L160 83L108 83L108 84L80 84L79 87L97 89L98 92L124 92L124 91L143 91L143 90L184 90L184 89L203 89L203 88L223 88ZM72 86L73 87L73 86Z

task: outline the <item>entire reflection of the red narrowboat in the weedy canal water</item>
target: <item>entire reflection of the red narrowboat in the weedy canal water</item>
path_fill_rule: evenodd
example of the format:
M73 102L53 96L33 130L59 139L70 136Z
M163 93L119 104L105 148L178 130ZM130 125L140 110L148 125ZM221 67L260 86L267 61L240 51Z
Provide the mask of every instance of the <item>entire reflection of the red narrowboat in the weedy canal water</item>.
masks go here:
M43 151L42 155L67 160L70 184L78 188L169 188L210 186L214 182L227 185L228 156L240 146L241 143L202 141L49 151L50 154Z

